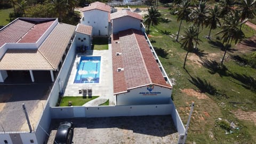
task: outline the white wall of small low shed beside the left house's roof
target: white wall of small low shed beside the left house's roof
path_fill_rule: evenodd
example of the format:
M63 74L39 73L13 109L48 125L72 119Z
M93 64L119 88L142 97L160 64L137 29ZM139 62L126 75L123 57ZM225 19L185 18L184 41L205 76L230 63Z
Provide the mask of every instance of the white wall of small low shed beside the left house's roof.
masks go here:
M75 41L77 46L85 45L85 46L88 46L89 49L91 48L91 37L89 35L76 33L76 39L74 39L73 41Z

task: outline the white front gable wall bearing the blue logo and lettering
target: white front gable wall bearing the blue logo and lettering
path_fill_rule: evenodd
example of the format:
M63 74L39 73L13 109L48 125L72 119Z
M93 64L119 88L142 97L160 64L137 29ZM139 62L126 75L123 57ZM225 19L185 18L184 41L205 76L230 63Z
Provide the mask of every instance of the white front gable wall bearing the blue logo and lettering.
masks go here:
M117 105L147 105L169 103L172 90L165 87L154 85L150 92L147 86L130 90L123 94L117 95Z

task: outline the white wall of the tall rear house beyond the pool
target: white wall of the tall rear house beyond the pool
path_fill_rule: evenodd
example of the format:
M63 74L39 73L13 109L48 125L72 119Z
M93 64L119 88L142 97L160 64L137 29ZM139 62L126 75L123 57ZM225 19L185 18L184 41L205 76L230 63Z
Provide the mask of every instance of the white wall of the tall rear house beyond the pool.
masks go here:
M99 30L101 36L108 36L108 12L100 10L91 10L84 12L83 25L92 26L92 35L98 36Z

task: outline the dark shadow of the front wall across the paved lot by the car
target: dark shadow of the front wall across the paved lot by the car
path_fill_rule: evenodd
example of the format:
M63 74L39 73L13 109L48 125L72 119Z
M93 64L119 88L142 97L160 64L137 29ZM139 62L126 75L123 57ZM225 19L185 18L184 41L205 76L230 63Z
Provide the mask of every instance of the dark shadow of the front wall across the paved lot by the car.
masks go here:
M156 137L165 137L166 135L177 132L170 115L52 119L52 129L57 129L59 123L63 121L73 122L75 128L105 129L117 127L118 129L132 130L133 133L154 135Z

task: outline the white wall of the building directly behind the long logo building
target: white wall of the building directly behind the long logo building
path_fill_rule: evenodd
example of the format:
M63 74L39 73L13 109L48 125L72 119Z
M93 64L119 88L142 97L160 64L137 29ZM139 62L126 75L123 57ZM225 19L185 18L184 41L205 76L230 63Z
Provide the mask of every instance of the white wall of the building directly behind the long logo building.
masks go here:
M117 34L119 31L126 29L138 29L141 30L141 21L129 16L112 20L113 34Z

